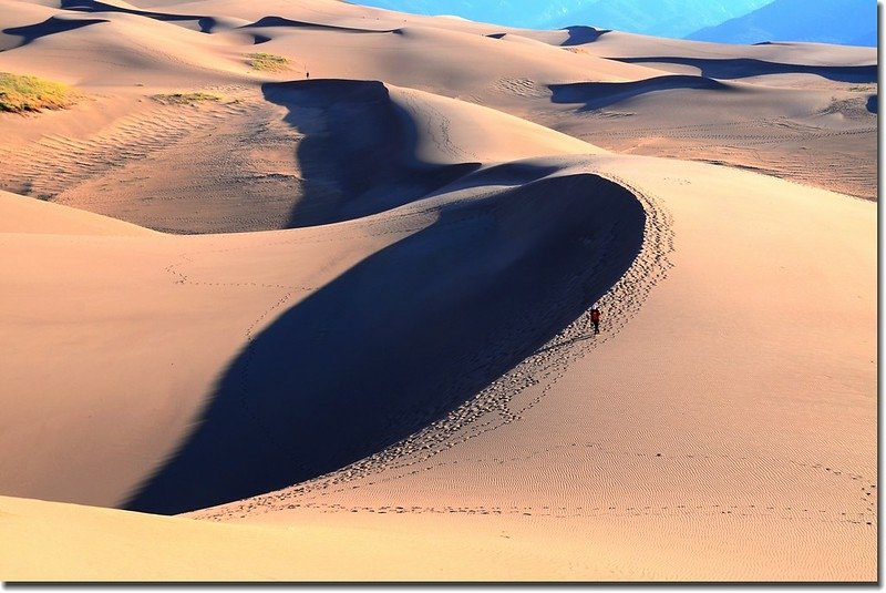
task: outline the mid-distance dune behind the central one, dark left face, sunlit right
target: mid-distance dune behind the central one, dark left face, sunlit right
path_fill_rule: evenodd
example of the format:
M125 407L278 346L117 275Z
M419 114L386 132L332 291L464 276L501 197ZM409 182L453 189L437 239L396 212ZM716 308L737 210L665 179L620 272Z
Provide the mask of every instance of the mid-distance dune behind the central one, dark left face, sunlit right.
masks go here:
M303 196L289 224L309 226L410 203L491 162L599 149L492 110L377 81L262 86L302 131Z

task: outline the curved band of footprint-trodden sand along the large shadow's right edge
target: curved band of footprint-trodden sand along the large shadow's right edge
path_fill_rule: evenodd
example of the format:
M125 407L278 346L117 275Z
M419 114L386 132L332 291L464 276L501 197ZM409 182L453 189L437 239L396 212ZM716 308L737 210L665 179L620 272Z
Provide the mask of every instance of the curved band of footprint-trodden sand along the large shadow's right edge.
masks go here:
M412 470L443 451L519 421L554 388L571 362L584 358L598 345L614 339L642 307L655 286L667 278L668 270L673 266L669 259L669 254L674 248L671 215L655 196L640 192L618 176L586 175L618 184L636 196L645 211L643 241L637 257L625 274L599 298L587 301L586 308L575 320L491 382L476 397L402 441L329 474L279 492L251 498L243 505L227 504L217 512L203 512L200 517L222 518L237 512L277 508L284 501L303 494L322 497L350 488L371 485L374 483L372 474L379 472ZM597 336L594 336L589 311L595 301L607 310L604 330ZM522 397L530 389L532 395ZM358 482L359 480L365 482ZM354 482L358 485L351 487Z

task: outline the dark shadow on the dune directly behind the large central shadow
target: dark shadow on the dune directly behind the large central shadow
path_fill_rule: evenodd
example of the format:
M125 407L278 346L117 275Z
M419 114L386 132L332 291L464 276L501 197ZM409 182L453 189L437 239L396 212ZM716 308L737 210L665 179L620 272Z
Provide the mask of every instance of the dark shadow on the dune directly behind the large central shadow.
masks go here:
M412 117L377 81L306 80L262 85L306 134L298 146L302 197L290 227L340 222L412 202L477 170L415 159Z

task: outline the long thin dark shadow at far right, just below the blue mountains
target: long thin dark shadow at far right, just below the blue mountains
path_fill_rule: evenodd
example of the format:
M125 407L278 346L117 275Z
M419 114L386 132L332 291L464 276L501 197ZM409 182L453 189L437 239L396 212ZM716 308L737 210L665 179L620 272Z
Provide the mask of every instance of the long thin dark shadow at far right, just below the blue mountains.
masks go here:
M744 79L764 74L816 74L837 82L876 82L875 65L806 65L766 62L750 58L705 59L679 57L612 58L627 63L666 63L691 65L701 70L701 75L711 79Z

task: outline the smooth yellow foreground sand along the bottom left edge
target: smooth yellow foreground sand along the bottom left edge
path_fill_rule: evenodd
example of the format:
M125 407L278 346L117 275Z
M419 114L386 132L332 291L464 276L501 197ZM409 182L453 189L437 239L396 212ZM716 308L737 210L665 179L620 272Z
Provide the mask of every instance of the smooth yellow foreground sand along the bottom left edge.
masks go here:
M515 541L476 520L394 526L385 518L224 525L0 497L8 581L481 581L641 577L542 530ZM60 529L64 525L64 529ZM431 536L429 536L431 535ZM7 545L10 544L10 545ZM564 548L571 545L571 553ZM48 562L48 559L52 559ZM576 569L579 569L576 571Z

